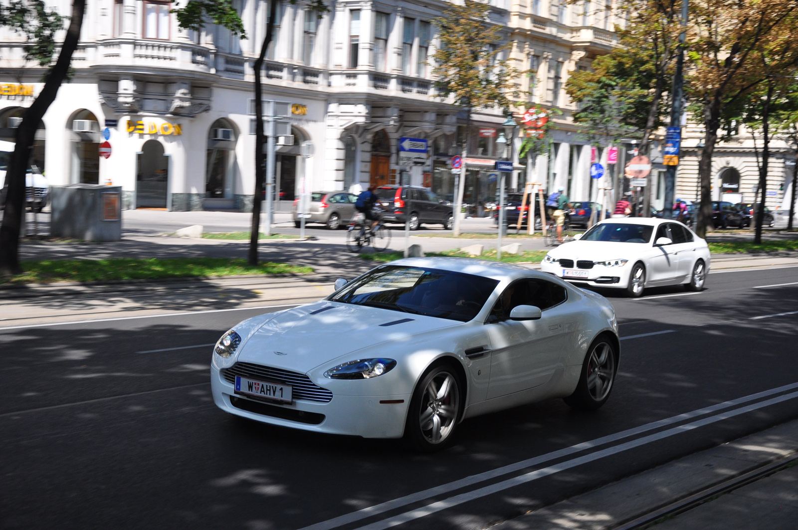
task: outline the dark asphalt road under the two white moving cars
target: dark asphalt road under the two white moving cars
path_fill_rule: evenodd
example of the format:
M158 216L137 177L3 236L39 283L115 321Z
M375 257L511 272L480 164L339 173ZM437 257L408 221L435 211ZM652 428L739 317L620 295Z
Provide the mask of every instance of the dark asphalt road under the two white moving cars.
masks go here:
M216 409L209 345L263 310L0 328L0 528L485 528L798 417L798 267L708 287L610 298L625 338L599 412L473 418L433 455Z

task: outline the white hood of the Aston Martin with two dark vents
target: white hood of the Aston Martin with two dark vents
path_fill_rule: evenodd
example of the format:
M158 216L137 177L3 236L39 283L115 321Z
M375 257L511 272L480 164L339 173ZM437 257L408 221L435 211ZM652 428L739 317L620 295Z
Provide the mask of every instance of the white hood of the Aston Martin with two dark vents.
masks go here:
M322 310L325 307L332 308ZM385 325L407 318L412 320ZM401 341L414 334L460 323L322 300L267 319L243 343L237 360L306 373L368 346ZM369 355L378 353L375 350Z

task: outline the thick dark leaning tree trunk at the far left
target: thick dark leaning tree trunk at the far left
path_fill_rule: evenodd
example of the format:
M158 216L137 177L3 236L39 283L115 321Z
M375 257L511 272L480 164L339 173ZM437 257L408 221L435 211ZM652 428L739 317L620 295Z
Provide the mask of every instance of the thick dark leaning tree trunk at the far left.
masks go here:
M69 28L66 30L64 42L61 44L58 59L47 73L47 80L38 97L22 114L22 123L17 128L14 153L11 155L8 172L6 172L8 192L6 212L3 213L2 227L0 227L0 275L14 275L20 272L19 232L25 215L25 174L30 160L30 150L33 148L34 136L41 118L44 117L47 109L55 100L61 83L69 73L72 54L81 37L85 7L86 0L73 0Z

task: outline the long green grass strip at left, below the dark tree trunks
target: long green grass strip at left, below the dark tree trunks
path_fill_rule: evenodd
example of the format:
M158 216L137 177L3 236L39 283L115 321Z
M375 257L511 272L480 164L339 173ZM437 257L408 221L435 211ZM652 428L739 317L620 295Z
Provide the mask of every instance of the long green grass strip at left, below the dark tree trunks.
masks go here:
M2 283L98 282L235 275L305 275L314 270L288 263L247 265L246 259L53 259L24 261L22 274L0 277Z

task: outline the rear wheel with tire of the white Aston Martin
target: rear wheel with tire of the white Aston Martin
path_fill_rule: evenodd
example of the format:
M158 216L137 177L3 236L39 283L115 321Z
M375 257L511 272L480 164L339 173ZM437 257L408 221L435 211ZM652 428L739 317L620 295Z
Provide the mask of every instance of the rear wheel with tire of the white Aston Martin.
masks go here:
M601 408L610 398L616 374L618 352L609 338L601 336L587 350L576 390L564 401L568 406L580 410Z

